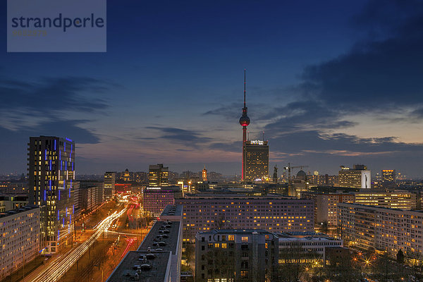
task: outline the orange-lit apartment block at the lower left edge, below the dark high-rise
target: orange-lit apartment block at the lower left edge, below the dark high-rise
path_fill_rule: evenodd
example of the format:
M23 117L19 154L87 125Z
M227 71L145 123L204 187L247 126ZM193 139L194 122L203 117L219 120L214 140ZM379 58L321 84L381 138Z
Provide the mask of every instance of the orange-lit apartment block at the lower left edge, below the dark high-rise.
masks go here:
M0 213L0 280L39 255L39 207Z

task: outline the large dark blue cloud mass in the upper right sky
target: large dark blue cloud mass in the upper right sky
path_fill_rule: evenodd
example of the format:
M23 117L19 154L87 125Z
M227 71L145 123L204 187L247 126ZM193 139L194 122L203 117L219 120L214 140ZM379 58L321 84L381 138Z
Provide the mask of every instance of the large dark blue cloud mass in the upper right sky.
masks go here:
M393 3L398 4L398 1ZM402 10L403 20L399 22L391 19L396 27L390 28L388 38L368 39L357 43L343 56L305 68L298 87L303 97L332 109L355 113L423 104L419 95L423 91L421 6L417 5L411 14L407 14L408 9ZM362 18L371 18L371 12L365 13Z

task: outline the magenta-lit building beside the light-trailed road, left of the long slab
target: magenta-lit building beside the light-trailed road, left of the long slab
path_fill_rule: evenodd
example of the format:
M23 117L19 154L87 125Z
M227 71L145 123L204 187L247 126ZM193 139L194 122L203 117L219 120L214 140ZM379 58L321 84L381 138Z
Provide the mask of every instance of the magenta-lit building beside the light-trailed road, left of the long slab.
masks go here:
M149 216L160 216L168 204L182 197L179 186L147 187L142 190L142 207Z

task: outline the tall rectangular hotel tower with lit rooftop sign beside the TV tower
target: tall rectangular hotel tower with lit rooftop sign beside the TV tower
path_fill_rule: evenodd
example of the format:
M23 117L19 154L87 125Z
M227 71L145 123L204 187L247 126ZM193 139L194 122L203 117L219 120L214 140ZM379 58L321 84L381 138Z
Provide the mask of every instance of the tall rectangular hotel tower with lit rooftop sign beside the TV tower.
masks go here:
M267 145L267 141L246 141L244 164L247 182L268 180L269 145Z

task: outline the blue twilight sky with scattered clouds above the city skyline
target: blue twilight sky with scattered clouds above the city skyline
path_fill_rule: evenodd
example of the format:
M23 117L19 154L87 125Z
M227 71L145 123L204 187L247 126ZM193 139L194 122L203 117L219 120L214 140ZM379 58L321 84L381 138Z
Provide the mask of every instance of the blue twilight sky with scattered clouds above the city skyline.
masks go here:
M423 1L108 1L106 53L6 53L0 173L32 135L77 143L77 173L239 174L250 139L271 168L367 164L423 176Z

